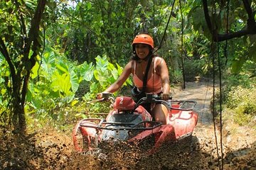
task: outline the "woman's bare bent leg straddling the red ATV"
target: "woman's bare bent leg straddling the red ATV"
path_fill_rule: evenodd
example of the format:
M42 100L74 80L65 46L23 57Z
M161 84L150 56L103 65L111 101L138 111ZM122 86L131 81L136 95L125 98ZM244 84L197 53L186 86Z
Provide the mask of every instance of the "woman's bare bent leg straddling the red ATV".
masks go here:
M166 118L168 115L168 109L163 104L156 104L151 111L151 115L154 117L155 121L161 122L166 125Z

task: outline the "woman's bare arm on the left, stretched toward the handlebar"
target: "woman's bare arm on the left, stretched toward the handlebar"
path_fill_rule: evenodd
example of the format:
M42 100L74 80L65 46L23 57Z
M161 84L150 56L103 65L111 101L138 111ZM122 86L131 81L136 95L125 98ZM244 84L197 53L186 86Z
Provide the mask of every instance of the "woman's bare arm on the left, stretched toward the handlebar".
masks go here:
M103 92L114 93L114 91L117 91L122 86L122 84L124 84L124 81L126 81L129 75L132 73L132 62L133 60L128 62L128 64L124 67L122 74L118 77L117 81L115 81Z

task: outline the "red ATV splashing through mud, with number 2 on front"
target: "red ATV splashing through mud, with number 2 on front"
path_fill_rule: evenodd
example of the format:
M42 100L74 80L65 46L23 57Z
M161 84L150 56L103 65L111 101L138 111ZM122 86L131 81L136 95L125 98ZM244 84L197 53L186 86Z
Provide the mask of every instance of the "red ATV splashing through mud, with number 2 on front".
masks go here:
M198 121L198 114L193 112L196 101L164 101L154 94L146 94L137 103L127 96L102 94L96 101L111 101L113 109L107 118L86 118L80 120L73 130L73 144L78 152L97 154L99 142L127 141L142 142L149 136L154 137L154 147L148 150L153 154L164 142L177 142L191 137ZM141 106L142 103L162 103L169 108L167 124L152 120L151 115Z

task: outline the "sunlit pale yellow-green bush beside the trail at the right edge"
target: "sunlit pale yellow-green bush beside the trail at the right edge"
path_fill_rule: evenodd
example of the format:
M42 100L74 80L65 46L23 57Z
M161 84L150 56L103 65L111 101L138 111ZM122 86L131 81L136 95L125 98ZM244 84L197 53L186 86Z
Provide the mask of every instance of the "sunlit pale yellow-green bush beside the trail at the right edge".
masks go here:
M229 75L223 88L223 103L239 125L247 125L256 115L256 80L247 74Z

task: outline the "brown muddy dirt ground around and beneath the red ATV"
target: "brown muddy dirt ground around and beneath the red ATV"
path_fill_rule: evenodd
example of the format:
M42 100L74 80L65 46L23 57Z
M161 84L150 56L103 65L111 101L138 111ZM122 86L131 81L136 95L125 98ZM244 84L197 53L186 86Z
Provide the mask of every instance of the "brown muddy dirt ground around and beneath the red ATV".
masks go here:
M174 99L195 100L199 115L192 142L164 145L146 156L134 145L102 145L105 157L79 154L73 149L71 130L42 129L26 137L1 128L1 169L256 169L255 130L223 121L214 128L210 112L211 81L186 83L186 89L172 89ZM224 114L224 113L223 113ZM222 135L222 145L220 145ZM216 141L218 145L216 145ZM221 150L223 154L221 154ZM223 155L223 159L221 159ZM222 164L223 163L223 164Z

